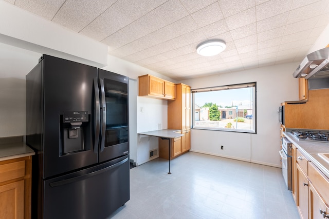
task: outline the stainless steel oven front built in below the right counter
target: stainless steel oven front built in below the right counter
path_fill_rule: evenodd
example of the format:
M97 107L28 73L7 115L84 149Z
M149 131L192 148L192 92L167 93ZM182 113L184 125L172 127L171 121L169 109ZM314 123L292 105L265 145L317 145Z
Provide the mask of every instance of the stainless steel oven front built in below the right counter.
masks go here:
M293 158L292 143L286 137L282 137L282 149L279 151L282 161L282 175L288 190L293 189Z

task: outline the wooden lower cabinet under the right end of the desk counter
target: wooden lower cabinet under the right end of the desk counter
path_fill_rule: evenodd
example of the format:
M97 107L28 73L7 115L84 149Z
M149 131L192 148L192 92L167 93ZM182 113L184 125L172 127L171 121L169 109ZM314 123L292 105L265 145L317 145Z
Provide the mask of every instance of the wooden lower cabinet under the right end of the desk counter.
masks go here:
M171 139L170 159L181 154L181 137ZM169 140L159 138L159 157L169 160Z

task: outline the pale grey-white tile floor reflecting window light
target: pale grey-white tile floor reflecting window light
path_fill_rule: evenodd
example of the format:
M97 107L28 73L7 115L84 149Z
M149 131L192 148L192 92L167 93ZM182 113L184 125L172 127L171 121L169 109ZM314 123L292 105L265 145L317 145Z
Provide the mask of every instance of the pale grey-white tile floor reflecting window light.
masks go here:
M299 218L281 169L188 152L130 170L130 201L109 218Z

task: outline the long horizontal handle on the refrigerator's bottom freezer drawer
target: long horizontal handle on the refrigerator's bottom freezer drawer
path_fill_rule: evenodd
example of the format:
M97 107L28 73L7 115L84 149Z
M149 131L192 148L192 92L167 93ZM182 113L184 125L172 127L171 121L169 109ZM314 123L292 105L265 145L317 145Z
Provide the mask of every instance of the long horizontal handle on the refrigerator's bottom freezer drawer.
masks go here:
M95 175L98 175L98 174L101 174L103 172L106 172L108 170L111 170L113 168L116 168L120 165L122 165L123 163L127 162L128 161L128 158L125 158L124 160L116 163L116 164L113 164L111 166L108 166L108 167L105 167L103 169L100 169L100 170L96 170L94 172L90 172L90 173L87 173L85 175L80 175L80 176L76 176L76 177L72 177L72 178L67 178L66 180L61 180L61 181L57 181L57 182L52 182L50 183L49 185L51 187L57 187L57 186L63 186L65 184L69 184L69 183L74 183L74 182L77 182L77 181L82 181L82 180L85 180L86 178L89 178L89 177L92 177L92 176L95 176Z

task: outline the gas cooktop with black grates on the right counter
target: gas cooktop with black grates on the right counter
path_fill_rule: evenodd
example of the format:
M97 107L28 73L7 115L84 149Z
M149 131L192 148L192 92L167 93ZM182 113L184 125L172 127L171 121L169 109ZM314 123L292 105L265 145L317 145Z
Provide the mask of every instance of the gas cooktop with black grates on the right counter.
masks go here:
M298 140L329 143L329 131L326 130L291 130L291 133Z

